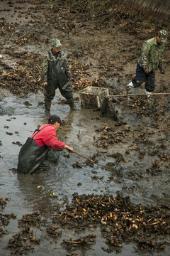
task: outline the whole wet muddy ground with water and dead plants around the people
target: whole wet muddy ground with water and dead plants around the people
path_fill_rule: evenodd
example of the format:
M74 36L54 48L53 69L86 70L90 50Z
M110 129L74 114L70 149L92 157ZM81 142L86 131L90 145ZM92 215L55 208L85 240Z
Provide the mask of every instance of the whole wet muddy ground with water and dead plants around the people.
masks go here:
M79 101L89 85L121 95L143 41L164 24L121 1L18 0L1 1L0 25L1 255L169 255L170 97L110 98L115 112L105 114ZM54 36L79 108L71 112L56 92L57 137L95 164L62 151L57 165L23 176L18 152L47 121L41 63ZM155 92L169 92L169 53L168 43Z

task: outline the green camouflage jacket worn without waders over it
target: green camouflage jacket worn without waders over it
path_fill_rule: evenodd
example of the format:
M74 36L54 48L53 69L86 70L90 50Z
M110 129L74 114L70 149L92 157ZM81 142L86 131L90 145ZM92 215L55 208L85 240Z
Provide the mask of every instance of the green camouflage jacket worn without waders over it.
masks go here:
M148 72L155 71L157 68L164 68L164 43L159 45L156 37L151 38L142 46L141 55L138 60L139 65L148 70Z

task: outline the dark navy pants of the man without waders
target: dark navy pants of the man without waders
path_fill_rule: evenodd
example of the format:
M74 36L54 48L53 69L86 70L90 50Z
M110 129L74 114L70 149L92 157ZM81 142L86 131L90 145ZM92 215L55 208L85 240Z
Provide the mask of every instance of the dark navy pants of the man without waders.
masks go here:
M137 63L136 76L132 79L132 84L134 87L139 87L145 82L145 89L147 92L153 92L155 89L155 73L151 71L149 74L146 74L143 68Z

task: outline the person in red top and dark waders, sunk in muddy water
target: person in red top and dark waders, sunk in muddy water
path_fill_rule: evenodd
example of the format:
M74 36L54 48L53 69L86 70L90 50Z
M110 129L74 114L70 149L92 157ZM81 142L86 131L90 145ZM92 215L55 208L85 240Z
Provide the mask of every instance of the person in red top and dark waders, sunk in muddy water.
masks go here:
M53 114L48 119L48 124L43 124L21 147L18 155L17 172L20 174L32 174L42 164L49 152L62 151L67 149L73 151L71 146L67 146L64 142L56 137L56 131L62 125L60 117Z

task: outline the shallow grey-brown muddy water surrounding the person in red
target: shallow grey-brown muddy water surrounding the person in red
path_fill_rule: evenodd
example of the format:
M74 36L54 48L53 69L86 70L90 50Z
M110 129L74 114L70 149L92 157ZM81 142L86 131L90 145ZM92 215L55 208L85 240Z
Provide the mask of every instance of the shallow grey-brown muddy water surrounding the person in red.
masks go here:
M77 97L78 95L74 95ZM141 178L141 183L137 172L149 164L143 161L142 164L135 161L135 153L132 159L124 159L120 166L114 168L114 157L106 158L106 149L96 149L94 146L94 136L96 129L108 124L110 127L115 125L115 121L107 117L101 117L100 112L84 109L79 100L76 105L78 112L70 112L66 104L58 104L63 98L57 92L54 102L52 102L51 114L58 114L64 120L65 125L58 132L58 138L74 148L74 151L91 158L96 152L100 154L98 164L86 166L86 159L77 154L69 154L67 151L60 153L58 164L45 163L44 169L30 176L16 174L13 169L17 167L18 152L21 148L19 144L26 142L27 137L41 124L46 122L44 115L43 95L39 92L37 95L29 94L27 96L13 96L5 90L1 90L1 116L0 116L0 161L1 161L1 197L8 197L9 201L3 213L14 213L16 220L12 220L6 230L8 235L0 240L0 255L10 255L6 250L8 240L12 235L19 233L18 220L22 215L38 211L42 206L48 206L50 203L67 203L72 201L72 194L103 194L111 193L116 196L118 191L123 191L123 195L130 195L134 203L155 203L157 198L162 198L163 193L168 195L169 188L166 184L167 176L162 176L162 181L157 181L153 177L148 181ZM96 119L96 117L98 117ZM130 125L137 129L137 119L132 114L126 113L125 119L130 120ZM158 135L157 135L158 136ZM125 145L115 145L114 156L118 152L125 150ZM112 152L113 153L113 152ZM74 168L72 164L76 162L81 164L81 168ZM108 164L106 166L106 164ZM133 173L130 173L132 169ZM93 178L97 175L97 180ZM140 174L139 174L140 175ZM132 176L136 177L133 181ZM155 186L153 186L155 184ZM52 196L53 195L53 196ZM54 196L55 195L55 196ZM169 198L166 199L168 201ZM63 208L64 208L63 206ZM61 242L69 238L77 239L81 235L93 233L97 236L96 245L91 245L88 250L83 248L74 250L74 254L80 255L108 255L106 241L101 235L99 229L87 229L83 234L74 233L72 230L62 230L62 236L57 240L52 240L45 232L45 227L34 228L36 238L40 238L40 245L35 246L33 252L27 255L67 255L67 251L62 247ZM103 250L104 248L104 250ZM159 255L168 255L169 248ZM112 252L112 255L116 255ZM140 255L135 252L135 245L123 245L120 255ZM143 253L142 255L148 255ZM153 253L152 255L157 255Z

